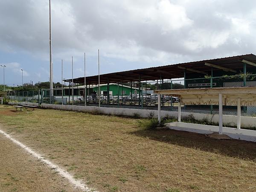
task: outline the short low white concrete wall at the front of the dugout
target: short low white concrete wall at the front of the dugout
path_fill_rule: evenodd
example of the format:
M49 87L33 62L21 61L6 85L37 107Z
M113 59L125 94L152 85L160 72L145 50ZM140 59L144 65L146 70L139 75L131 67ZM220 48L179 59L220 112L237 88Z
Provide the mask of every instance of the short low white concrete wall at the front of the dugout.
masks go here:
M218 126L198 125L198 124L183 123L183 122L167 123L166 127L170 129L179 130L179 131L189 131L189 132L200 133L200 134L212 134L214 132L219 131ZM253 130L223 127L223 134L236 140L256 142L256 131L253 131Z

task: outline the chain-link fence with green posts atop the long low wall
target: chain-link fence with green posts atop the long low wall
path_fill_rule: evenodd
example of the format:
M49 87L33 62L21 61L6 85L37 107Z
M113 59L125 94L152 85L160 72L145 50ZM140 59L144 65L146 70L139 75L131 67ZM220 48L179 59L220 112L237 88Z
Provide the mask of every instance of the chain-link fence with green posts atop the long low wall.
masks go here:
M159 89L191 89L206 87L243 87L256 86L256 75L236 75L222 77L205 77L200 79L158 80L131 83L104 84L64 87L53 89L53 98L50 90L23 91L9 93L9 99L15 102L35 102L98 106L102 107L157 109L157 94ZM85 91L86 90L86 91ZM100 94L99 94L100 93ZM100 95L100 96L99 96ZM161 96L161 110L177 111L178 98L175 96ZM184 112L218 114L218 105L184 105ZM223 113L236 115L236 106L223 106ZM243 116L256 116L256 107L241 107Z

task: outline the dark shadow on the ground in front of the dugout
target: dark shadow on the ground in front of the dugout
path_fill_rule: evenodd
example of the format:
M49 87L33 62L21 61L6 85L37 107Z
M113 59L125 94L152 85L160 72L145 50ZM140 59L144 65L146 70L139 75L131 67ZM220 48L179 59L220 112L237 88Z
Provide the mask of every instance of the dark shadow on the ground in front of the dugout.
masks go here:
M139 137L147 137L164 143L170 143L188 148L195 148L216 154L237 157L256 162L256 143L242 140L217 140L204 134L171 129L139 130L131 132Z

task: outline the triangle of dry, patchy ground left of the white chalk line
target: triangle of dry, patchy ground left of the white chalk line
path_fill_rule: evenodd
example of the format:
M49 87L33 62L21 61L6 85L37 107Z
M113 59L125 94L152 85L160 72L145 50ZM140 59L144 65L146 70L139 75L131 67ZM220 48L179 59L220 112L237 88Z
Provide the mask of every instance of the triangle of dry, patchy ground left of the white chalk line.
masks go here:
M55 170L49 170L2 134L0 146L0 192L74 191L74 187Z

